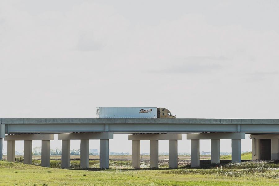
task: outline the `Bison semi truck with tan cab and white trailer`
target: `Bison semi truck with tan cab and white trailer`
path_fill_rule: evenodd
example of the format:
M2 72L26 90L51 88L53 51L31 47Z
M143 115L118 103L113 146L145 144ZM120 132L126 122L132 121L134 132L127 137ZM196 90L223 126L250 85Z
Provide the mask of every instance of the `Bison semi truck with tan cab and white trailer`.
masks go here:
M166 108L97 107L97 118L176 118Z

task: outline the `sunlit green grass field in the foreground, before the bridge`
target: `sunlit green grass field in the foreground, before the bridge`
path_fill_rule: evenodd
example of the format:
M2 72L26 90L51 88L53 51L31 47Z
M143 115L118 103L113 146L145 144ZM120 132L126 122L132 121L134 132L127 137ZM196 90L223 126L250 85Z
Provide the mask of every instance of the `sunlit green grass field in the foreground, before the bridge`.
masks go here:
M279 164L267 162L156 170L131 169L129 161L110 161L106 170L94 168L98 163L81 170L0 161L0 185L279 185Z

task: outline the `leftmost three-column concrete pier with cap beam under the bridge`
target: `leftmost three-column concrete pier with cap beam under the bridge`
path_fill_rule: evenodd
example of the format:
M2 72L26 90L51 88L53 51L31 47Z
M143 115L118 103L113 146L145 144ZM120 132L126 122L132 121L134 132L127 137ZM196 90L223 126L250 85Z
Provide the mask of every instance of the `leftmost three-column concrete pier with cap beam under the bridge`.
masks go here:
M50 140L54 140L53 134L15 134L6 135L7 161L15 162L15 141L24 141L24 163L32 164L32 141L42 140L42 162L41 166L49 166Z

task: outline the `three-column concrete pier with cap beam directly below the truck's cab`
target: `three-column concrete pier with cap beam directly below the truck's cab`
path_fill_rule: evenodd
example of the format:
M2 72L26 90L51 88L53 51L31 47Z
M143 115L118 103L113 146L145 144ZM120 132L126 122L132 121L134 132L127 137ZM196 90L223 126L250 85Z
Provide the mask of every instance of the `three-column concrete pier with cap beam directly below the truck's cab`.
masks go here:
M169 167L177 167L177 140L181 140L181 134L133 134L128 140L132 140L133 168L140 168L140 140L150 140L150 168L158 168L158 140L169 140Z

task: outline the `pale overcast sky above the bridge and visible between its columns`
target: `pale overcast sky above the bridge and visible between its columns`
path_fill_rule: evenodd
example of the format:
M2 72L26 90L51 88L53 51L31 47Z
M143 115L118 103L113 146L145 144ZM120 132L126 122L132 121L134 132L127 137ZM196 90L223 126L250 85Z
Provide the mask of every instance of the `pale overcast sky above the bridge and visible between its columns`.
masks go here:
M92 118L96 107L125 106L278 119L278 8L277 0L1 0L0 118ZM110 151L131 152L127 138L115 134ZM230 144L221 140L220 151ZM241 150L251 150L248 136ZM178 151L190 152L185 135ZM209 140L200 151L210 151Z

